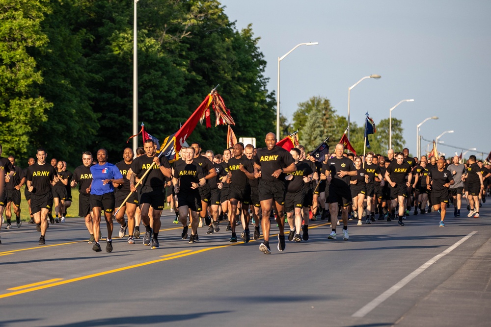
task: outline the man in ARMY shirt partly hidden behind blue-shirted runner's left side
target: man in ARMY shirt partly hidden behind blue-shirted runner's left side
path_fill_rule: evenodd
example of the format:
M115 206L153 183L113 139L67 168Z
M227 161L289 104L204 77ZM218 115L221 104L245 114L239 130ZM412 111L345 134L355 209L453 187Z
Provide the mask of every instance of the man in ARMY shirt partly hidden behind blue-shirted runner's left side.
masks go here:
M95 242L92 225L92 210L90 208L90 185L92 184L92 173L90 172L90 166L92 166L92 153L89 151L82 152L82 165L75 168L73 172L73 179L70 186L74 188L79 184L79 216L85 220L85 227L90 233L89 244ZM99 238L102 234L99 234Z

